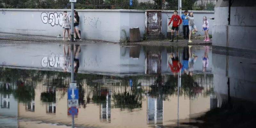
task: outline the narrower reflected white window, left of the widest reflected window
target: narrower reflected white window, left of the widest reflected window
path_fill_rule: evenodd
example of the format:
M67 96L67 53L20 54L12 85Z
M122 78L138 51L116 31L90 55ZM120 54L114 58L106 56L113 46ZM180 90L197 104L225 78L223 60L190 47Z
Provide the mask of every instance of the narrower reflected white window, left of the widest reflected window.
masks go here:
M111 122L111 94L106 95L106 102L100 104L100 122Z

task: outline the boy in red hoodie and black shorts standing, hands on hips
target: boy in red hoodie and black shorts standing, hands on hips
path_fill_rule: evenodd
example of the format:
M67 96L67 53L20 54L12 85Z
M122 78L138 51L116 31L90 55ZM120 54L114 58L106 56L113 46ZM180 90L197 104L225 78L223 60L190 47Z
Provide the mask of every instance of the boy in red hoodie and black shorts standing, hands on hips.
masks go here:
M174 11L174 15L172 15L172 18L171 18L170 22L168 23L168 26L171 24L172 21L173 21L173 23L172 23L172 41L171 42L173 42L173 38L174 38L174 34L173 34L174 29L176 30L176 35L177 35L177 41L175 41L175 42L178 42L179 25L182 23L182 19L180 18L179 15L177 15L177 10Z

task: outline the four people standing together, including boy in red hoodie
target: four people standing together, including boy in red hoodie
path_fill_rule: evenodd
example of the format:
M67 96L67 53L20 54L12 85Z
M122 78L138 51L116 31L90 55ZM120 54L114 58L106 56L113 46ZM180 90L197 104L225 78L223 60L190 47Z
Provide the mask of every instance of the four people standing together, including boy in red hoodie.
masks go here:
M195 22L194 22L194 15L193 12L189 12L188 10L184 11L183 14L181 14L181 16L179 16L177 14L177 11L174 11L174 14L172 15L171 20L168 23L168 26L172 23L172 40L171 42L173 42L174 39L174 31L176 31L176 35L177 35L177 40L175 42L178 42L178 38L179 38L179 26L182 23L183 25L183 37L184 39L188 39L189 43L192 43L191 41L191 34L195 34L195 31L197 32L198 29L196 28ZM204 31L204 42L208 42L210 41L209 38L209 22L207 20L207 17L204 16L203 17L203 24L202 24L202 31ZM189 32L189 34L188 34Z

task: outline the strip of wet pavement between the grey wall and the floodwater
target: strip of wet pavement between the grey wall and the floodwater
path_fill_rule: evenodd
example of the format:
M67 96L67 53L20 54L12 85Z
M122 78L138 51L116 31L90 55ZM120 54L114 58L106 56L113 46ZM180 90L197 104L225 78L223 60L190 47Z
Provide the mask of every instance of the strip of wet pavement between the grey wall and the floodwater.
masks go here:
M204 39L192 39L193 43L190 45L211 45L212 39L210 42L203 42ZM188 40L180 39L179 42L170 42L171 40L146 40L141 42L128 42L120 44L140 44L140 45L149 45L149 46L187 46ZM0 43L60 43L60 44L69 44L68 39L62 38L61 35L56 36L35 36L35 35L22 35L22 34L10 34L10 33L0 33ZM82 40L76 41L73 43L78 44L89 44L89 43L114 43L100 40ZM114 43L116 44L116 43Z

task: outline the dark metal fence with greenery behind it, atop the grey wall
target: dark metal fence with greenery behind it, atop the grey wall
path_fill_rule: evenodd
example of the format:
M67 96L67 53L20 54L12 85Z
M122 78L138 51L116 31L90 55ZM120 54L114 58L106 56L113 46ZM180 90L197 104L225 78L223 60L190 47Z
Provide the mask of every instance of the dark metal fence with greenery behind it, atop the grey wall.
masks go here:
M75 9L178 10L179 0L77 0ZM182 0L182 10L214 10L217 0ZM132 3L132 4L131 4ZM70 9L69 0L0 0L0 8Z

